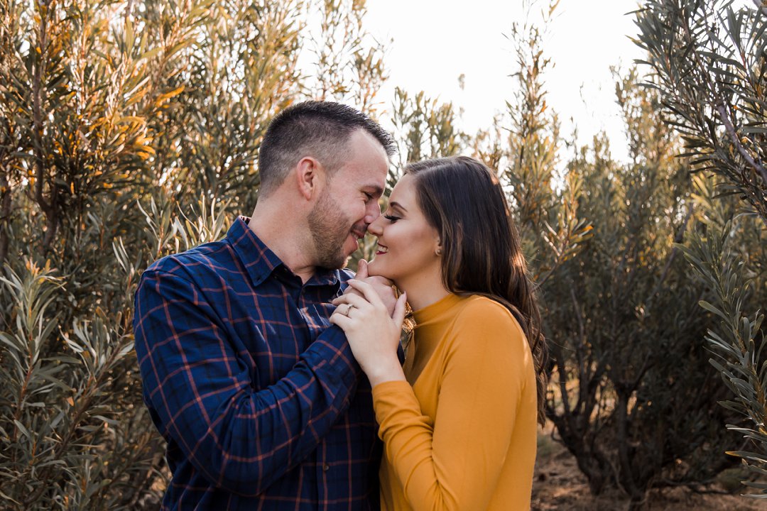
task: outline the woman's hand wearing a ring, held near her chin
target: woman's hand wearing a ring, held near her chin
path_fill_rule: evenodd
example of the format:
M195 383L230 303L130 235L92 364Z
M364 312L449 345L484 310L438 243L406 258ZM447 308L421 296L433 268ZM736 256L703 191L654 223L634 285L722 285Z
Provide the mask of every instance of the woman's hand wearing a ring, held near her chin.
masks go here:
M348 284L362 296L347 293L333 300L336 310L331 323L346 333L351 352L371 386L393 380L404 381L397 347L405 319L406 294L402 293L397 300L390 317L387 306L369 283L349 280Z

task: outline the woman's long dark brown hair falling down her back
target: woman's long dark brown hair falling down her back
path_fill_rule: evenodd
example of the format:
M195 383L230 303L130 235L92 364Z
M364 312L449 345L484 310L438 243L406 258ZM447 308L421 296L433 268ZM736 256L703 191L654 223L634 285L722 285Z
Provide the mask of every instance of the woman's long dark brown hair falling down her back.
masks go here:
M418 205L439 233L447 290L502 303L517 319L535 361L538 422L545 422L548 349L532 280L503 189L493 172L468 156L410 163Z

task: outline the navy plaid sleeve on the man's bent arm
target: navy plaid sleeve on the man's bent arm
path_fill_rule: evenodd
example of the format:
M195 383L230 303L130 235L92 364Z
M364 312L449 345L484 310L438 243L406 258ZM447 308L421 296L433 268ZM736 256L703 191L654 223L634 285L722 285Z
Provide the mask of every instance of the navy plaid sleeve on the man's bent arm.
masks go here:
M255 496L314 450L348 407L359 368L337 327L274 385L256 391L202 291L147 270L135 299L144 398L193 466L219 488Z

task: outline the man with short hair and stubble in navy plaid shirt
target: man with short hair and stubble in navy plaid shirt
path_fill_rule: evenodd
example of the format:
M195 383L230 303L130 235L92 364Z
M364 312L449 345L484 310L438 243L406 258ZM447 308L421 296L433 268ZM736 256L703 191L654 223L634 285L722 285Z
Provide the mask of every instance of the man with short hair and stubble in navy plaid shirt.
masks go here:
M370 385L328 318L393 152L357 110L291 106L264 136L252 218L143 273L134 332L168 442L163 509L377 509Z

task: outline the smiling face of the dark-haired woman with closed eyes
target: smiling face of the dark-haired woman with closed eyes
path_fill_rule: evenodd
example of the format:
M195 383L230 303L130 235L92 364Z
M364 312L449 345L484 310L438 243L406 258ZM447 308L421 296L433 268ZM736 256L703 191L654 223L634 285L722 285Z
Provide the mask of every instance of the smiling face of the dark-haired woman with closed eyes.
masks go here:
M378 238L370 275L387 277L404 290L408 282L440 274L439 234L418 207L414 181L404 175L391 192L387 211L367 228Z

